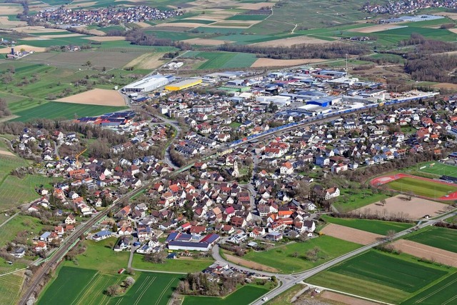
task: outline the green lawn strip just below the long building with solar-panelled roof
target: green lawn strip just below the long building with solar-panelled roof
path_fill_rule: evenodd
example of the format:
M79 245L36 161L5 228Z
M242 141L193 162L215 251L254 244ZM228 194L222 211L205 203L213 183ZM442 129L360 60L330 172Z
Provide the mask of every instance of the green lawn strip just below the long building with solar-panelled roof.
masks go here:
M167 259L164 264L153 264L143 260L143 255L134 254L132 267L151 271L172 271L182 273L200 272L214 263L213 259Z

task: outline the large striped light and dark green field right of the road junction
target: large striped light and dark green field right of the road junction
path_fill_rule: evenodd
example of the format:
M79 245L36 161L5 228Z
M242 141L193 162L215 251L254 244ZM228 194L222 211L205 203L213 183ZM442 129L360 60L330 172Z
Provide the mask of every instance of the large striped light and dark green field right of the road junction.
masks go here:
M449 272L449 269L418 263L412 256L393 256L372 250L312 276L308 282L398 304Z

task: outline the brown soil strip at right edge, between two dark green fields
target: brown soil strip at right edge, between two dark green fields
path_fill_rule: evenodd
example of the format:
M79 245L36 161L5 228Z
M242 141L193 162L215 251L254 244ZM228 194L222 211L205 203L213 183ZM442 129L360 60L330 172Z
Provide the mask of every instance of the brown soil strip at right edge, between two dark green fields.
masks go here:
M457 253L438 249L433 246L416 243L415 241L407 241L400 239L393 242L396 249L403 251L406 254L411 254L416 257L434 260L438 263L448 266L457 267Z

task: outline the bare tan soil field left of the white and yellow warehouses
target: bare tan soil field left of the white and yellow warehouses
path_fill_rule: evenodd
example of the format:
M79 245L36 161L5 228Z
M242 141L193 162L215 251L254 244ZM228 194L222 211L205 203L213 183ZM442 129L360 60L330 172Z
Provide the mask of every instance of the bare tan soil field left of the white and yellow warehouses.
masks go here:
M107 89L92 89L56 101L85 105L126 106L124 97L118 91Z

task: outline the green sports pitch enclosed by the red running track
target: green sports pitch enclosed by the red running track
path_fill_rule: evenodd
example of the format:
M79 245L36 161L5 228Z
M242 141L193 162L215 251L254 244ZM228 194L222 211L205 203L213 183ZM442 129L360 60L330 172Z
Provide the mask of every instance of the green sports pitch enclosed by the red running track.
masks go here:
M426 196L428 198L439 198L446 196L448 193L457 191L457 186L440 184L412 177L397 179L386 185L389 189L395 189L396 191L402 192L411 191L418 196Z

